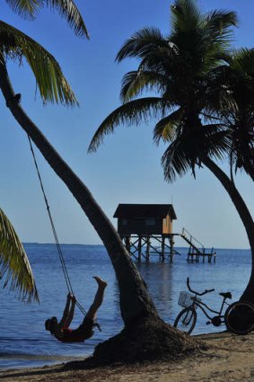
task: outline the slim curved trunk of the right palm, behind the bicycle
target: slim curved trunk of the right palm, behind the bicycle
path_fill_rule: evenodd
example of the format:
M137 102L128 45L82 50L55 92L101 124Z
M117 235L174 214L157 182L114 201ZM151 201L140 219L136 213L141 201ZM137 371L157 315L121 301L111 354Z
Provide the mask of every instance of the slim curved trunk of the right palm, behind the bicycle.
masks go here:
M223 173L223 171L213 162L211 159L206 158L202 161L206 167L215 174L216 178L223 184L224 189L231 197L234 207L237 209L241 221L246 229L248 239L250 242L250 251L252 259L252 267L250 273L249 283L241 295L241 300L250 301L254 304L254 222L250 215L250 211L247 208L244 200L241 198L239 191L236 189L234 183L230 178Z

